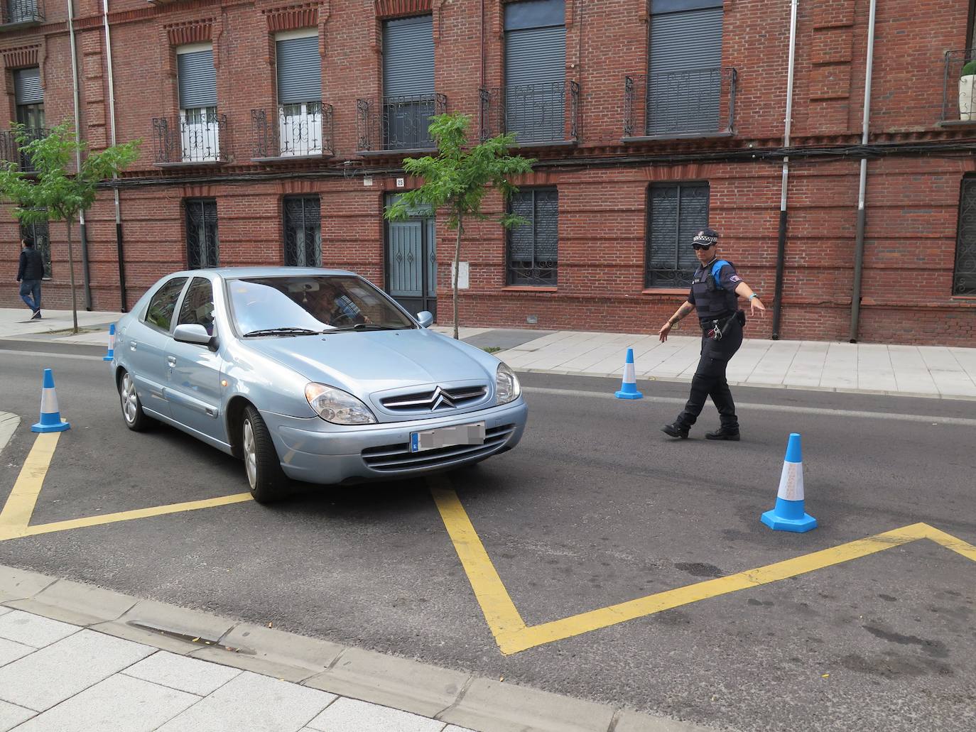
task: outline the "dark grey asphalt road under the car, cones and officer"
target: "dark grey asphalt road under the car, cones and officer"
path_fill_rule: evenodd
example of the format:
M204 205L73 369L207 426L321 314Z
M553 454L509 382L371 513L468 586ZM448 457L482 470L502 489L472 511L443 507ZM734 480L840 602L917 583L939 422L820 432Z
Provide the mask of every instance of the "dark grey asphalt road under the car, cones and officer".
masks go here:
M106 364L11 349L56 348L0 342L0 411L22 419L0 502L45 365L72 424L32 523L246 490L240 463L181 432L127 430ZM600 396L610 380L523 383L522 444L448 480L530 626L915 522L976 543L974 402L738 388L742 442L702 439L711 407L676 442L659 427L686 386L641 382L651 398L626 402ZM791 431L820 522L803 535L759 522ZM929 541L510 656L424 480L16 539L0 563L715 727L976 728L976 564Z

